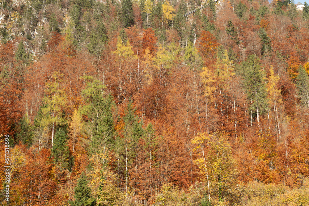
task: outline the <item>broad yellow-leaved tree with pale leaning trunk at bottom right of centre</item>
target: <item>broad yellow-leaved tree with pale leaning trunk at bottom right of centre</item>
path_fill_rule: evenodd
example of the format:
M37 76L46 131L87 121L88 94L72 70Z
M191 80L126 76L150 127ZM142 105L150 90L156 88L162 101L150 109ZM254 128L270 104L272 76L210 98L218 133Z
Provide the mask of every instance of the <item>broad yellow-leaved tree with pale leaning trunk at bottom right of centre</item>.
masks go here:
M207 179L209 201L212 194L214 200L232 203L237 194L237 163L225 135L200 133L191 142L195 145L193 151L197 154L194 162Z

